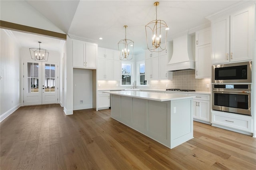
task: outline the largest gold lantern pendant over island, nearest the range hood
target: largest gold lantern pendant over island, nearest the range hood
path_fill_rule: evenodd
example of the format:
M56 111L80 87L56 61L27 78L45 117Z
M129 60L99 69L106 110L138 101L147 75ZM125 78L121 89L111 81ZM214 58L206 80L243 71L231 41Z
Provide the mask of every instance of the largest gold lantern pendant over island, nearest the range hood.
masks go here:
M160 52L166 48L167 30L169 30L164 20L157 20L158 5L159 5L159 2L154 3L154 6L156 6L156 20L149 22L145 26L148 50L151 52L153 51Z

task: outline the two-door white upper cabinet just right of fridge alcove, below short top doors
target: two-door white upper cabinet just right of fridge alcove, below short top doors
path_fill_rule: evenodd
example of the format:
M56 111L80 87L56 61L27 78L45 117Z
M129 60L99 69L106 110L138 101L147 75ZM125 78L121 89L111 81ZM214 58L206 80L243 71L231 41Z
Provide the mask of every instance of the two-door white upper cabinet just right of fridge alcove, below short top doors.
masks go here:
M113 80L113 65L111 59L98 58L98 80Z

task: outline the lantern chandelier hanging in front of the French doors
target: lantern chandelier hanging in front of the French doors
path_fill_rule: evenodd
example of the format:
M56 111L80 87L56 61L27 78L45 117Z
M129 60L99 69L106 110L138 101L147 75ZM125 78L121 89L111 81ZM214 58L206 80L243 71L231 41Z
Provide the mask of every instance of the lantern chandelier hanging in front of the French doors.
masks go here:
M49 52L46 49L40 48L40 43L42 42L38 42L38 43L39 43L39 48L29 48L31 58L35 61L47 61Z

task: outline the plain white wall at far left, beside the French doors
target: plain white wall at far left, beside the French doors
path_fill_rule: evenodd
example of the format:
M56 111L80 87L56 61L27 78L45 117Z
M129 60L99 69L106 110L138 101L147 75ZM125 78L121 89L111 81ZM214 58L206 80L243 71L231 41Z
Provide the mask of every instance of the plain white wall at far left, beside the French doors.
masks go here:
M20 46L9 30L0 29L0 121L20 107Z

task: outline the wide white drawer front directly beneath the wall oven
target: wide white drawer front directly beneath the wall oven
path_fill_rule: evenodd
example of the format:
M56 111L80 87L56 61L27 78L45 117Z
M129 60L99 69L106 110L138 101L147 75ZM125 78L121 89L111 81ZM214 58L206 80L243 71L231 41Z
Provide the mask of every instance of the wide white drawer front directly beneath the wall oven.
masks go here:
M239 117L239 115L232 116L227 114L220 115L220 113L212 113L212 123L252 132L252 119Z

